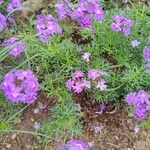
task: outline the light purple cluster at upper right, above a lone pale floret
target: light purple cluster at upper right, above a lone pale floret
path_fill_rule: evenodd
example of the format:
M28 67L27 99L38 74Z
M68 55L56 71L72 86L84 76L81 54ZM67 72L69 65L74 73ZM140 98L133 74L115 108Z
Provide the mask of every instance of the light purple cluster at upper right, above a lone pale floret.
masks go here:
M112 30L117 32L123 32L126 36L128 36L131 33L133 20L128 19L124 16L114 15L112 17L112 21Z

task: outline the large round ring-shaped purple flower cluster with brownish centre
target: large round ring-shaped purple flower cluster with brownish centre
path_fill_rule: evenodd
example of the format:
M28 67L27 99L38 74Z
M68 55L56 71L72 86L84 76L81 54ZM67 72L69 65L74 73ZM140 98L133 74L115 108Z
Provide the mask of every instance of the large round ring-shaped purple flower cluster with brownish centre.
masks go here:
M28 104L36 100L39 83L32 71L17 70L5 75L0 89L11 102Z

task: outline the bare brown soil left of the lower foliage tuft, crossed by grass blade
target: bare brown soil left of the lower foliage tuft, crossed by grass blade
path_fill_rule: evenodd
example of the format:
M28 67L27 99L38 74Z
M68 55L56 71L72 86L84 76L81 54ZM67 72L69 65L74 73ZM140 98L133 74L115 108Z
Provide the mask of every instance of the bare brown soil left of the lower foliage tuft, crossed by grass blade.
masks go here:
M48 109L54 104L55 100L49 99L45 94L40 93L37 101L24 110L18 124L14 127L15 130L35 131L43 120L50 117L51 114ZM32 136L30 133L15 132L0 136L0 148L2 150L43 150L44 147L45 145L38 140L38 136Z

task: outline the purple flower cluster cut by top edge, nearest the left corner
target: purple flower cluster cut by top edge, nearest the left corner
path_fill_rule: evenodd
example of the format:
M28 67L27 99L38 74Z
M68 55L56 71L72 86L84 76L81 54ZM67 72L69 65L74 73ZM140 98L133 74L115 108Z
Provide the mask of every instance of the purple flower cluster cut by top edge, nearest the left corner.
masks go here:
M7 11L11 12L14 9L22 7L21 0L11 0L10 3L7 5Z

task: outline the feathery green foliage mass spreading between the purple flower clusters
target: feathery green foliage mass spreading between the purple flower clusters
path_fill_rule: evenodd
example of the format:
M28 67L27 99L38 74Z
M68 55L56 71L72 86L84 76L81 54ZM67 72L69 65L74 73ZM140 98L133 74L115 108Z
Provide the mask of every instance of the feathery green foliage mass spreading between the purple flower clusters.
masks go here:
M72 9L76 8L76 4ZM53 7L51 9L55 15ZM111 29L112 16L118 14L134 21L129 36ZM43 123L42 132L53 136L55 134L56 137L66 130L71 134L79 133L80 113L75 111L73 102L70 102L73 90L70 91L66 87L69 79L76 82L73 78L75 71L82 71L86 79L91 69L104 72L103 80L107 88L105 85L104 89L100 90L96 88L97 81L90 80L91 87L87 88L86 84L84 85L86 88L82 90L91 93L95 102L112 101L115 104L116 100L121 101L128 93L140 89L150 93L150 75L144 69L143 59L144 46L149 44L147 39L150 31L149 14L148 7L132 4L131 7L124 9L106 10L105 18L93 21L92 28L81 28L72 20L58 21L62 34L53 36L46 43L45 41L42 43L38 38L42 33L37 33L33 28L37 25L36 16L33 14L27 24L20 24L18 30L13 33L4 31L2 40L9 35L17 35L20 42L26 45L26 49L21 57L15 59L8 54L11 47L1 47L1 74L3 76L9 70L26 68L33 70L40 82L40 88L58 102L52 109L50 121ZM76 36L73 37L74 35ZM44 38L42 37L42 40ZM133 47L131 42L135 39L140 41L140 44ZM85 53L90 54L88 61L83 57ZM5 62L9 64L5 65Z

